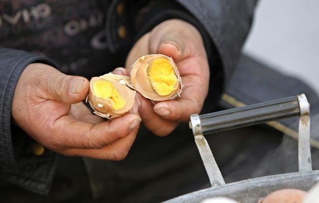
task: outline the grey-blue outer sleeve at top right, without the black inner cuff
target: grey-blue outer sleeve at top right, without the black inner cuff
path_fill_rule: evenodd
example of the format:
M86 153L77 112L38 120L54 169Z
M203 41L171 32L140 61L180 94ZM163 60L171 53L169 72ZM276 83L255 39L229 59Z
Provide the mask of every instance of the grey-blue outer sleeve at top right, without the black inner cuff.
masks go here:
M205 28L221 58L226 81L241 56L250 30L256 0L176 0Z

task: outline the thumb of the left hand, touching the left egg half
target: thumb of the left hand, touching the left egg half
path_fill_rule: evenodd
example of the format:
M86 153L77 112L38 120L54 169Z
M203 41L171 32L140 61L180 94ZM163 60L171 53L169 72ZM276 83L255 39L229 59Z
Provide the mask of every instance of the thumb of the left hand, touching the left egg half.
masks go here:
M35 64L37 65L37 64ZM44 98L68 104L81 102L88 94L89 82L80 76L68 76L56 68L41 64L42 73L39 77ZM45 67L44 67L45 66Z

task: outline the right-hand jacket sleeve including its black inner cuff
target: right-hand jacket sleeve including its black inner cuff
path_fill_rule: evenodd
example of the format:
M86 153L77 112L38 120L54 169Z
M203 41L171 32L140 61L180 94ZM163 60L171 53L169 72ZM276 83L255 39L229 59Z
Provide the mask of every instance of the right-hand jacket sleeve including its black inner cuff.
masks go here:
M217 105L239 61L255 6L256 0L155 0L138 14L137 37L173 18L191 23L201 32L210 65L209 93L202 112L207 113Z

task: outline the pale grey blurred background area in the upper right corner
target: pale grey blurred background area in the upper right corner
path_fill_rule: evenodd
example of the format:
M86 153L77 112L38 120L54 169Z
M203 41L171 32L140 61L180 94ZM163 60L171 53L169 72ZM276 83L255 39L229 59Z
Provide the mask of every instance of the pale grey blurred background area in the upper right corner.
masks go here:
M243 51L319 95L319 1L260 0Z

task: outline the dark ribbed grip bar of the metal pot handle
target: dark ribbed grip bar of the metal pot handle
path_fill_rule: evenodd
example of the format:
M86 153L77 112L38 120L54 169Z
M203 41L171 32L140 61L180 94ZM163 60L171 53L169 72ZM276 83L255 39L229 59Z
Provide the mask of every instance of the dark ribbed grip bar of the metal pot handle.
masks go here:
M300 115L296 96L198 116L203 135ZM190 123L190 126L192 124Z

